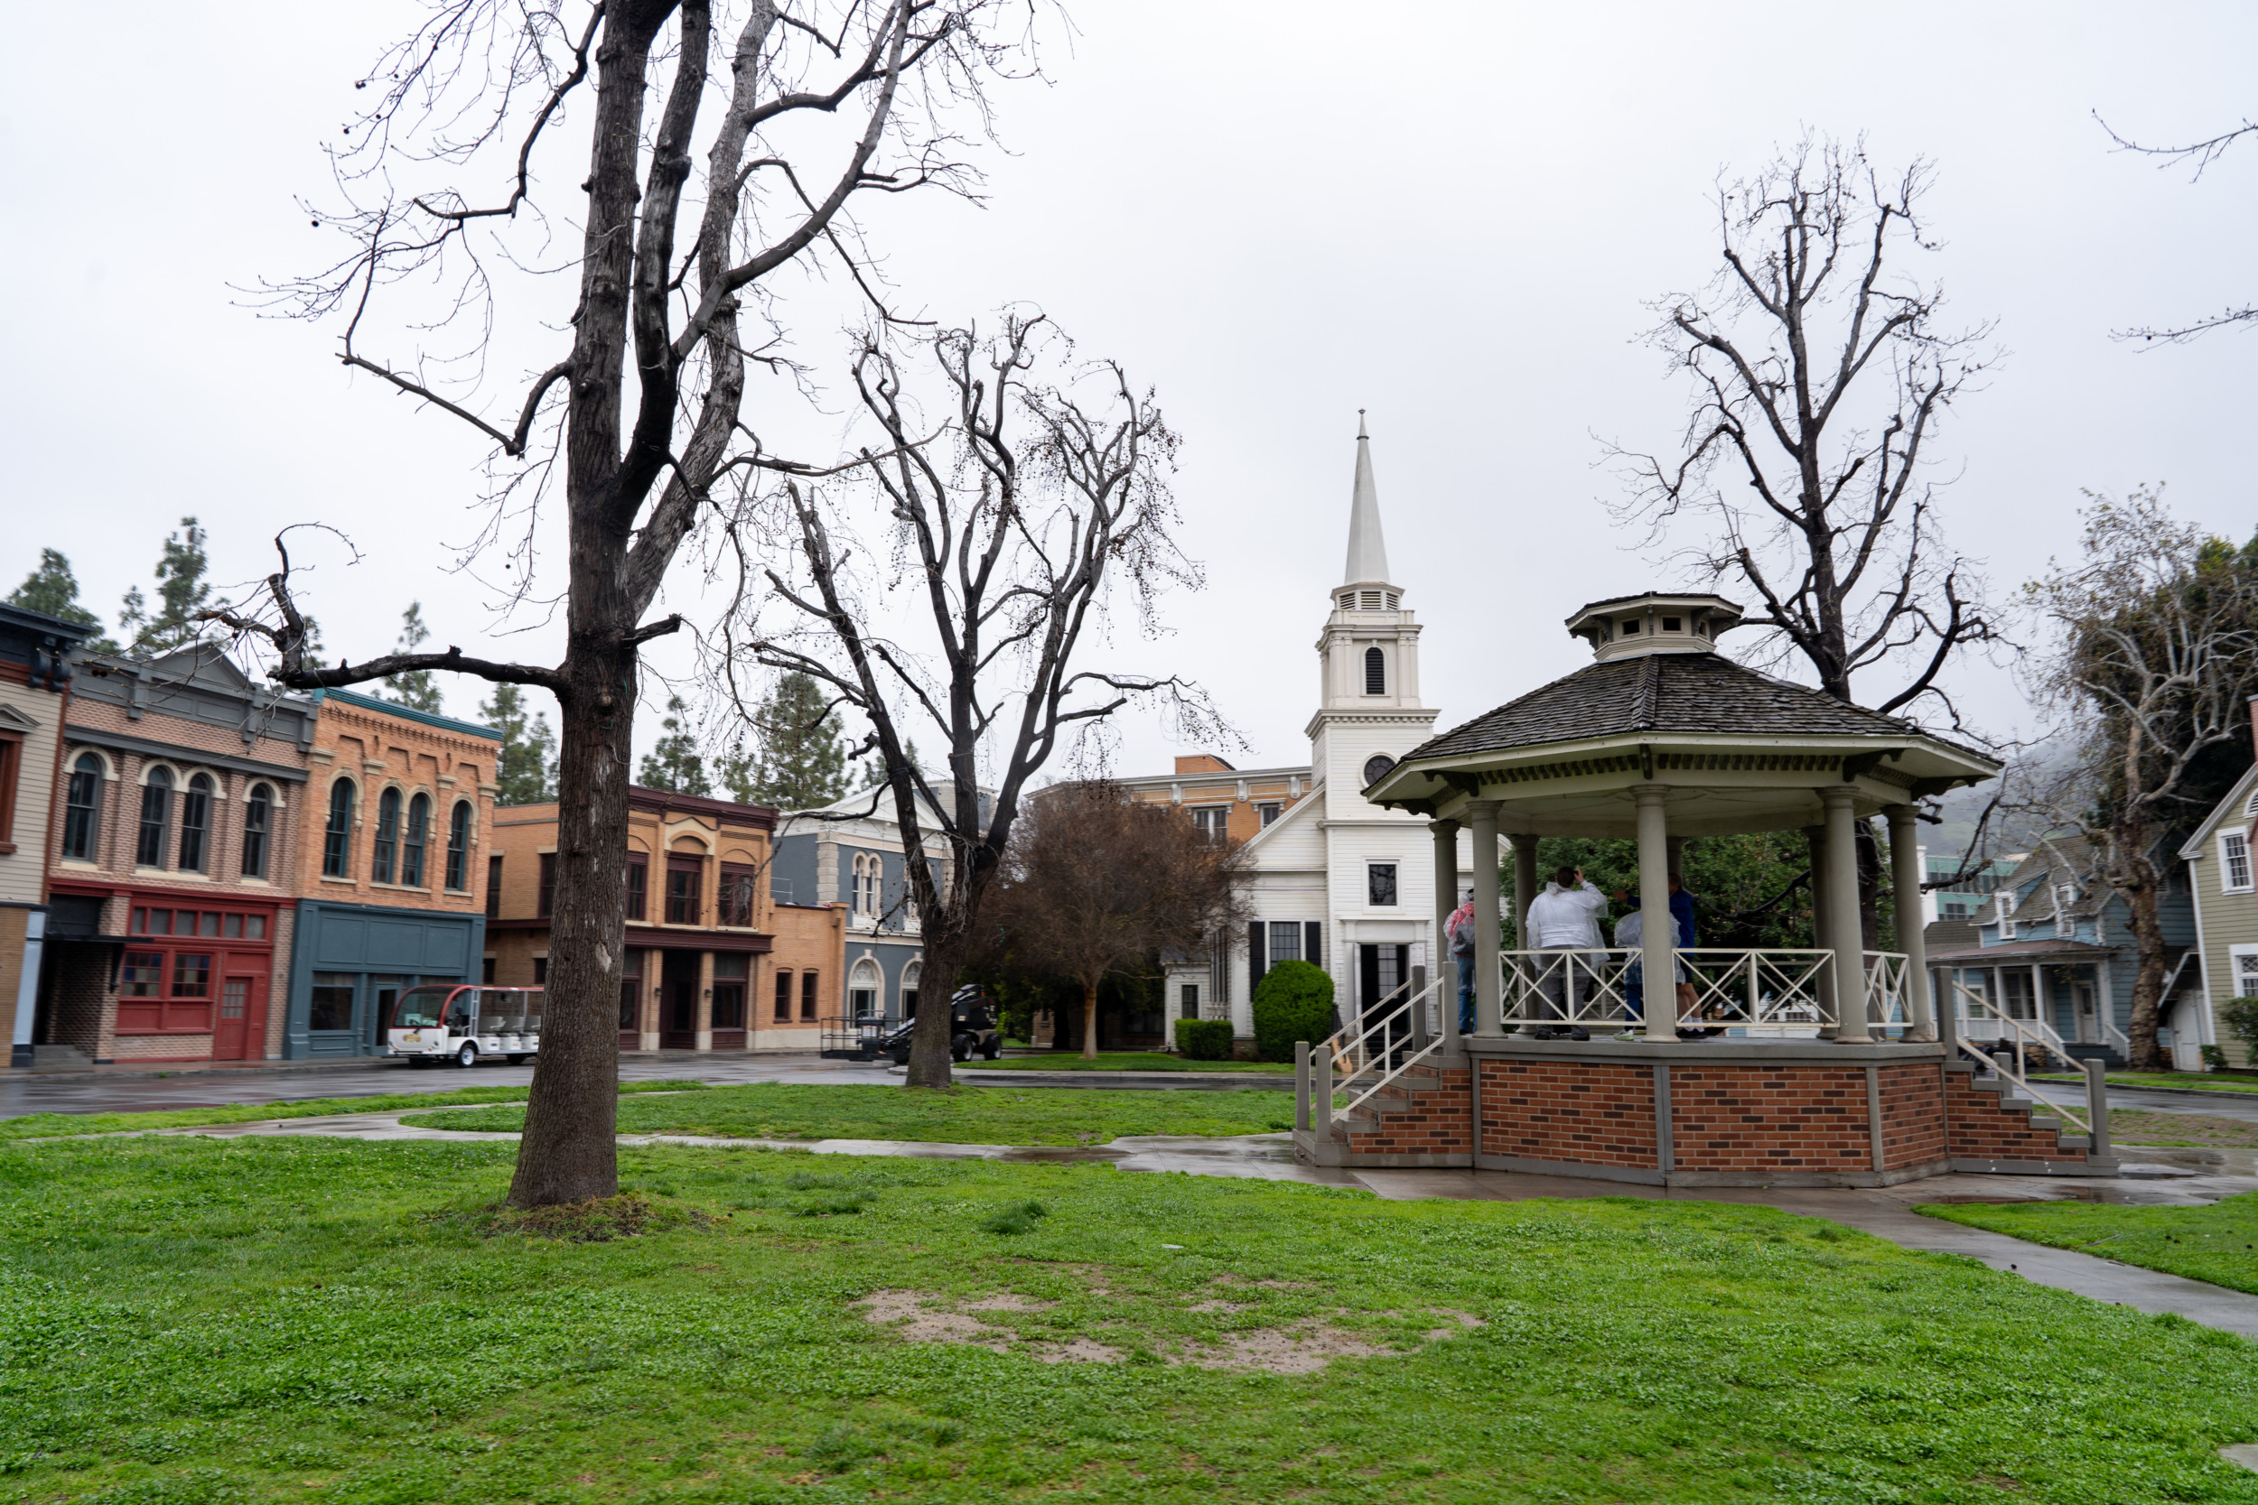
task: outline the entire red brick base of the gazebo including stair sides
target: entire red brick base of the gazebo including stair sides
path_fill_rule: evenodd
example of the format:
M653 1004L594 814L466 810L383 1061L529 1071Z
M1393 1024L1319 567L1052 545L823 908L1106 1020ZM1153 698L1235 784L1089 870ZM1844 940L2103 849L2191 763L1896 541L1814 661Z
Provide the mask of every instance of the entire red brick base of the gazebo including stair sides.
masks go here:
M1339 1167L1474 1167L1669 1187L1888 1187L1946 1171L2116 1176L2014 1083L1942 1045L1463 1042L1296 1130ZM1477 1130L1479 1126L1479 1130Z

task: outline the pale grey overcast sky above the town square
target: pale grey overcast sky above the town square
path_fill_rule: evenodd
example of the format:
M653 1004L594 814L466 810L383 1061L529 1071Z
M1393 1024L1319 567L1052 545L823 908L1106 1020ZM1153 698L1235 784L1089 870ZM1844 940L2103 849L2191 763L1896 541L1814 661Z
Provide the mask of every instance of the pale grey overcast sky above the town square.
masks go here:
M316 582L332 652L388 648L409 598L440 643L555 652L537 627L497 641L490 591L449 573L481 449L350 379L334 329L230 293L321 253L294 196L325 190L316 147L411 14L115 5L99 50L68 7L18 16L0 591L61 548L115 621L183 514L228 582L269 569L275 528L318 519L364 553ZM2007 352L1935 438L1940 505L1998 593L2075 546L2082 487L2168 483L2220 533L2258 521L2258 332L2109 338L2258 298L2258 142L2190 185L2093 120L2186 140L2258 111L2253 7L1079 0L1073 20L1050 83L996 95L1009 156L980 158L987 208L885 205L869 230L905 305L955 320L1030 300L1158 388L1208 589L1167 602L1156 643L1115 634L1109 666L1206 684L1242 767L1307 756L1357 408L1443 727L1576 668L1560 621L1583 600L1680 584L1610 528L1601 440L1666 447L1684 422L1637 343L1642 305L1707 280L1716 176L1804 129L1937 165L1942 248L1917 271L1958 323L1998 320ZM799 354L835 366L835 307L806 309ZM750 411L788 402L756 386ZM695 580L668 600L695 614ZM1962 686L1987 727L2025 724L2005 672ZM452 686L449 709L481 693ZM1115 767L1172 751L1129 722Z

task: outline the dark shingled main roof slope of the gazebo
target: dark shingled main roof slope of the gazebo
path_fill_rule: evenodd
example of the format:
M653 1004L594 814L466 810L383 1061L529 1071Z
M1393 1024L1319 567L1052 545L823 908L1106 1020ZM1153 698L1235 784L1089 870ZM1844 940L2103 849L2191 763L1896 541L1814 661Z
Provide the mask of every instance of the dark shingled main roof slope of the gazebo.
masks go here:
M1671 652L1585 666L1429 738L1404 754L1404 763L1630 733L1919 736L1944 742L1908 720L1759 675L1714 652ZM1944 745L1983 758L1976 749Z

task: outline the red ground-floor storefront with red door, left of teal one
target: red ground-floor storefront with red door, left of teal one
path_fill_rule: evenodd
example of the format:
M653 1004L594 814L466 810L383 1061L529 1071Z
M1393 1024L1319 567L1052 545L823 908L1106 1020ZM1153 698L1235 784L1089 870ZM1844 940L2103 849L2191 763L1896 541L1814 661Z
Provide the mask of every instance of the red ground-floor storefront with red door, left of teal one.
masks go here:
M208 1036L187 1060L257 1060L266 1054L266 991L275 963L278 907L176 889L86 889L56 894L111 900L124 934L117 945L115 1024L124 1036Z

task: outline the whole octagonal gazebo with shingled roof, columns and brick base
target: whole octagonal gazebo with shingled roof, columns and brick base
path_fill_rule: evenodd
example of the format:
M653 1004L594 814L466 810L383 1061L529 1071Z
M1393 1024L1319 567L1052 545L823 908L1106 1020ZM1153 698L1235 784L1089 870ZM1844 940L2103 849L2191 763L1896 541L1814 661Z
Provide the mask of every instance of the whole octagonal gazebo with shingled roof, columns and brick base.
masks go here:
M1511 839L1522 943L1504 948L1497 869L1477 862L1477 954L1497 961L1474 970L1474 1033L1456 1031L1447 975L1389 1018L1353 1022L1319 1051L1346 1063L1350 1110L1332 1117L1330 1058L1305 1079L1296 1135L1310 1160L1666 1185L2113 1173L2100 1135L2032 1117L2007 1076L1940 1040L1917 923L1901 927L1901 952L1870 952L1861 934L1856 824L1888 819L1894 889L1919 894L1915 801L1998 763L1725 659L1716 641L1741 616L1721 596L1596 600L1567 618L1590 666L1445 731L1366 787L1429 819L1445 914L1459 830L1477 853ZM1678 950L1678 846L1752 830L1809 839L1818 945ZM1637 952L1526 945L1535 844L1556 835L1637 839ZM1628 1018L1639 972L1660 986ZM1684 1013L1680 975L1694 984Z

